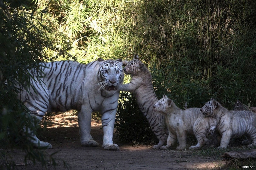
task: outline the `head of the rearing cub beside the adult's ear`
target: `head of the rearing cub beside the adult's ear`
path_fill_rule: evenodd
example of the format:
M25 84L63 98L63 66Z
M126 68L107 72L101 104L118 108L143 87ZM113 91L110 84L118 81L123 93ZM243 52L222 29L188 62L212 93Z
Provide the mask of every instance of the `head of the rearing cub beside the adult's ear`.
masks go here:
M135 54L133 57L133 60L131 61L123 61L123 71L125 74L131 74L133 75L138 75L141 71L141 69L145 66L144 63L142 63L141 60L139 60L139 55Z

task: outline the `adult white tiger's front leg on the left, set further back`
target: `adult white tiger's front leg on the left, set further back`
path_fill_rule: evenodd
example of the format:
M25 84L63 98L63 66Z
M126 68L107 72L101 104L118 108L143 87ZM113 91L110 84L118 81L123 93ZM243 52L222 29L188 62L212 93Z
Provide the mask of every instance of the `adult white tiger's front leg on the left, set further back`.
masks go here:
M98 142L94 141L91 136L91 119L92 110L86 106L82 106L81 110L78 111L78 125L81 145L83 147L97 147Z

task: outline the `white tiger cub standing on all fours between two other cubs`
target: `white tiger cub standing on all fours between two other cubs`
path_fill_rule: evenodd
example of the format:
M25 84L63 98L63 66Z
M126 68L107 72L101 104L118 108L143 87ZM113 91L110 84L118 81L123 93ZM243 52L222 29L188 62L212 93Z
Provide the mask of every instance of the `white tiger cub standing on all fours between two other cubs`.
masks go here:
M162 146L161 149L171 147L176 143L177 138L179 146L176 147L176 150L185 149L187 134L194 134L198 141L197 145L191 146L189 149L200 149L207 142L208 130L212 132L215 129L216 122L214 122L214 119L210 116L203 116L200 108L182 110L166 95L158 100L153 108L165 116L169 130L167 145Z

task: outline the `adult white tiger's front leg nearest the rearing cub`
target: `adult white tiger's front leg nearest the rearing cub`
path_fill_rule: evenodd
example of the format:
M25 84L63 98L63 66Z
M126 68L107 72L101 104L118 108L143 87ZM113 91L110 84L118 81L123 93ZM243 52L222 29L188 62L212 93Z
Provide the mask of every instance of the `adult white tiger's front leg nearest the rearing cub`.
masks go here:
M105 108L107 109L107 108ZM103 145L105 150L119 150L117 144L113 144L113 132L116 118L116 108L102 110L101 123L103 128Z

